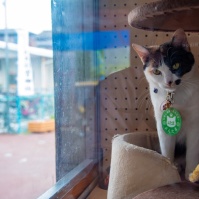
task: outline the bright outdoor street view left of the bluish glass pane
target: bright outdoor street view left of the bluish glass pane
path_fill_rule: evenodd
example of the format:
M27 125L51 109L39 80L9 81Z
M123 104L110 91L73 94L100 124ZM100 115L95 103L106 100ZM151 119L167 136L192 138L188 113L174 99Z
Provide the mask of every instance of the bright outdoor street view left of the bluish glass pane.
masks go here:
M51 2L2 0L0 18L0 198L37 198L56 180Z

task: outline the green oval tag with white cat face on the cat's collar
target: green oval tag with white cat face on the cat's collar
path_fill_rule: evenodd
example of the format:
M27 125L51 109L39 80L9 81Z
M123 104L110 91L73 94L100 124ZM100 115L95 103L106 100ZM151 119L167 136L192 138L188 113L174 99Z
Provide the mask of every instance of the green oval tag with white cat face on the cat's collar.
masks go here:
M162 128L168 135L176 135L182 126L182 117L175 108L168 108L162 114Z

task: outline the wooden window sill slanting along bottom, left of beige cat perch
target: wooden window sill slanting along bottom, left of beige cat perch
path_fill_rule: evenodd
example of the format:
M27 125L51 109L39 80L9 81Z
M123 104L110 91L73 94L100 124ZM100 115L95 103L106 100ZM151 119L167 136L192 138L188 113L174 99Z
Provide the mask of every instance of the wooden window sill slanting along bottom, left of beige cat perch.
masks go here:
M97 176L97 163L92 160L85 160L41 195L39 199L68 199L70 197L75 199L80 197L85 190L87 190L88 195L96 186ZM81 198L83 198L82 196Z

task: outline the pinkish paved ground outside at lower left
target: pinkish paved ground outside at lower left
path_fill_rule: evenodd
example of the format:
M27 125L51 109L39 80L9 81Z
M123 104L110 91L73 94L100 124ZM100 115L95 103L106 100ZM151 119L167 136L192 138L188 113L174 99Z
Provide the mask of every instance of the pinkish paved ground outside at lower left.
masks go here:
M36 199L55 184L55 134L0 134L0 199Z

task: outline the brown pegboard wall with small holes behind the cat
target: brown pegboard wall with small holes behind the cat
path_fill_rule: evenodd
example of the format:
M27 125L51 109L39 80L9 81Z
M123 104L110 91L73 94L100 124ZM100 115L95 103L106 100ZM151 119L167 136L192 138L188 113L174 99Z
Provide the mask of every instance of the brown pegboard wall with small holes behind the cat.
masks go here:
M122 51L119 51L117 55L114 53L109 54L104 61L104 65L108 70L109 62L107 60L121 60L124 57L129 59L128 67L124 66L120 71L118 71L118 68L113 68L113 70L109 71L112 74L108 75L100 85L102 170L105 172L110 165L111 141L115 135L156 129L148 84L143 74L143 66L131 45L132 43L143 46L159 45L170 41L173 33L135 29L129 26L127 20L128 13L133 8L150 2L152 0L100 1L100 30L129 31L129 45L120 46ZM178 28L180 27L176 27L176 29ZM187 33L187 36L192 52L195 55L196 64L198 64L199 45L197 41L199 41L199 34ZM124 40L125 35L115 39ZM117 49L118 47L115 46L114 48Z

